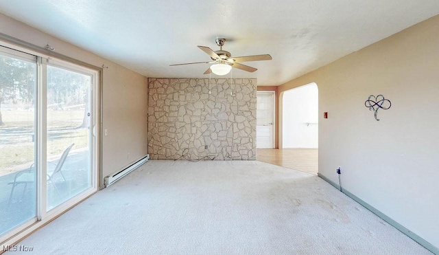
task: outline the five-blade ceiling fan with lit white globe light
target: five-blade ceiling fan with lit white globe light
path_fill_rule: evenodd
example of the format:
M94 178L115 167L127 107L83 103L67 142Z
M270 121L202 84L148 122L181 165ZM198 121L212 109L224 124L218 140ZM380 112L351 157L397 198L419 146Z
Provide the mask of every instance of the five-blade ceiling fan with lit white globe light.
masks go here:
M209 56L211 56L211 59L213 61L184 63L184 64L176 64L176 65L213 64L211 65L211 67L209 67L209 69L204 71L204 74L210 74L211 72L213 72L213 74L222 76L228 74L230 72L230 69L232 69L232 67L250 72L257 70L254 67L249 67L248 65L239 64L240 62L272 60L272 56L270 56L269 54L233 57L232 54L230 54L230 52L226 52L225 50L222 49L224 43L226 43L225 38L217 38L215 42L219 46L219 50L215 52L209 47L198 46L203 52L206 52ZM175 66L175 65L170 65L170 66Z

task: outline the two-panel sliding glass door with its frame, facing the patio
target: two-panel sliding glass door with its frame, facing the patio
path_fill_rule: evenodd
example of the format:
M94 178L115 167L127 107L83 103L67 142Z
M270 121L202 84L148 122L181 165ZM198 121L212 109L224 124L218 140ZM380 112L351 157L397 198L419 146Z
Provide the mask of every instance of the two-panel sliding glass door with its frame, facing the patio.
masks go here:
M97 190L97 71L22 51L0 46L0 244Z

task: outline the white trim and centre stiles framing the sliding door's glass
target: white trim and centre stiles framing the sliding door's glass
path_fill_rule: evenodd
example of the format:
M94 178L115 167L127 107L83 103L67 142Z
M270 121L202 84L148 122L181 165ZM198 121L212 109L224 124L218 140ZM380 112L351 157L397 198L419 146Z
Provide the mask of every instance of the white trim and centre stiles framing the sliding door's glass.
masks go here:
M7 232L1 236L0 245L14 245L25 236L31 234L38 228L42 227L49 221L55 219L63 212L66 212L70 208L73 208L76 204L82 200L93 195L98 189L98 170L99 170L99 137L100 137L100 124L99 124L99 70L91 69L80 65L78 63L71 63L65 60L54 58L40 52L35 52L31 49L15 45L14 43L7 43L0 40L0 46L6 48L0 48L0 52L18 57L23 60L35 60L37 65L37 87L36 87L36 217L23 223L19 227L16 227L10 232ZM68 58L68 57L67 57ZM48 62L50 64L48 64ZM91 139L91 169L92 179L91 187L80 192L56 206L55 208L47 211L47 65L54 67L60 67L68 69L69 71L75 71L80 74L91 76L91 93L90 99L90 111L92 113L91 126L95 126L95 135L90 135ZM37 147L38 146L38 147ZM0 250L0 253L2 251Z

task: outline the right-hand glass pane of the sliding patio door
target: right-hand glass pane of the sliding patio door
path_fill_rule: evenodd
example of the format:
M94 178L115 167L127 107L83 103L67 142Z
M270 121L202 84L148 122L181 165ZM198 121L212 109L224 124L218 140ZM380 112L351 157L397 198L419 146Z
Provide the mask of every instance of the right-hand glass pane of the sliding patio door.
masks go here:
M91 78L47 66L47 211L92 186Z

